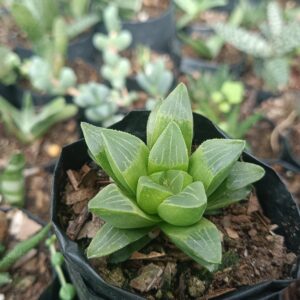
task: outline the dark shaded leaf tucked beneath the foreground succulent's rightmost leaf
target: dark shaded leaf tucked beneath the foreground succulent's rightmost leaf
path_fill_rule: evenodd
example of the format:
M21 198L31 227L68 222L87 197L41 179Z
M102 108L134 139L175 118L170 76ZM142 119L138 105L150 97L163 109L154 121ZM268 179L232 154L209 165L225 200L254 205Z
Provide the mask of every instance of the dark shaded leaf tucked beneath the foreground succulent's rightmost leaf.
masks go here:
M210 197L208 197L205 212L220 209L230 204L246 199L252 190L251 186L246 186L238 190L228 190L223 183Z

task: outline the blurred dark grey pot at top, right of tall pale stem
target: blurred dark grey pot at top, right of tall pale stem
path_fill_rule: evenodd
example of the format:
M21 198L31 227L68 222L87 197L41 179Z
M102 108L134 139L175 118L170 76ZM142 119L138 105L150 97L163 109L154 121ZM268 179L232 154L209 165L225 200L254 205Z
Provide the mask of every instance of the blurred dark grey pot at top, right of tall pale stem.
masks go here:
M122 28L130 31L132 35L130 47L143 45L158 52L170 52L173 48L176 31L172 1L170 0L169 7L160 16L145 22L123 21ZM98 31L106 32L103 23L98 25Z

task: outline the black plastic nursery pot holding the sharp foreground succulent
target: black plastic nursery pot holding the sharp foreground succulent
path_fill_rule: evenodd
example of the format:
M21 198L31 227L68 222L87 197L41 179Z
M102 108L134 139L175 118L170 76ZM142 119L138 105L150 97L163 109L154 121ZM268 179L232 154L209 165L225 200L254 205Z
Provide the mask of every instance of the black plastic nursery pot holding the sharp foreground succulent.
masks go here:
M129 132L145 141L148 116L149 112L145 111L131 112L122 121L114 124L111 128ZM194 132L193 142L195 144L201 144L203 141L211 138L224 138L224 135L211 121L197 114L194 114ZM265 215L270 218L272 224L279 226L277 233L284 236L287 248L299 254L299 207L296 206L291 194L287 191L278 175L270 167L246 152L243 153L243 160L261 165L265 169L266 175L259 182L255 183L258 199ZM71 241L61 227L58 219L58 207L59 201L61 201L61 192L66 184L66 171L68 169L79 169L88 161L90 161L90 158L87 153L87 146L84 140L80 140L63 149L55 169L51 218L61 251L65 256L68 267L72 269L81 280L78 284L81 284L81 290L85 293L82 299L144 299L106 283L91 267L78 244ZM293 278L300 276L300 266L293 271L292 276ZM241 288L216 299L271 299L269 296L279 297L280 291L286 288L291 282L292 280L268 281ZM76 284L77 282L75 282L75 285Z

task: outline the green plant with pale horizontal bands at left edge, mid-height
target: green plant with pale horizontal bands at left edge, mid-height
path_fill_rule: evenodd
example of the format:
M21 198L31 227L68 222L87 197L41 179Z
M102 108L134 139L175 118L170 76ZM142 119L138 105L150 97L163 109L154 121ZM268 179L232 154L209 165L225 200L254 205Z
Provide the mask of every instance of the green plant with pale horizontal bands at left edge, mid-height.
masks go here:
M6 168L0 173L0 195L5 203L22 207L25 198L25 157L22 153L11 156Z

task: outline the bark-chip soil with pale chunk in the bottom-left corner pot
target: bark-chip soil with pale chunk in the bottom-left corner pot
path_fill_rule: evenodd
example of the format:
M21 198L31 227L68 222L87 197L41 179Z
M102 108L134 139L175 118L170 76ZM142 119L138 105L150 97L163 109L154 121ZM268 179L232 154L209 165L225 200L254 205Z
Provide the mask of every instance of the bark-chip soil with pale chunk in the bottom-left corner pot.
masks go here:
M41 229L20 210L0 211L0 242L5 249L27 239ZM0 287L6 300L35 300L51 282L48 251L43 242L20 258L9 270L11 283Z

